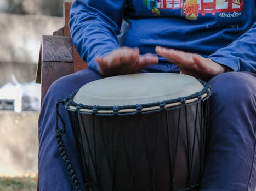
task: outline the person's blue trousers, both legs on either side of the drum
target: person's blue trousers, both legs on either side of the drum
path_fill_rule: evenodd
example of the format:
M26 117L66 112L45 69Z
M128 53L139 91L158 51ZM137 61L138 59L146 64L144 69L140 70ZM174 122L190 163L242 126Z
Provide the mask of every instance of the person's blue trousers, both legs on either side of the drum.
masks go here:
M38 122L40 191L75 190L56 144L55 105L59 99L67 97L84 84L101 78L87 68L55 81L44 97ZM256 74L224 73L213 77L208 83L212 89L210 127L200 190L254 191ZM86 190L69 118L64 107L60 107L59 111L67 126L63 136L67 154L81 183L81 190Z

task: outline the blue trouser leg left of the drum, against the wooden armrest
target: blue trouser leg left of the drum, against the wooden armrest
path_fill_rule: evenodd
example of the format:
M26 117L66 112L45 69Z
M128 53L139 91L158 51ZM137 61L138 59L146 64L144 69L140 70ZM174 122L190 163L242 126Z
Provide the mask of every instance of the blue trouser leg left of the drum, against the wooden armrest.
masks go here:
M39 190L75 190L72 184L69 171L60 156L55 139L55 123L56 123L56 103L59 99L66 98L73 91L76 91L84 84L100 79L101 76L93 70L84 69L75 74L64 76L56 80L50 86L48 93L45 95L41 114L38 122L39 135L39 154L38 154L38 182ZM65 119L66 126L69 126L69 118L64 107L59 108L61 116ZM62 124L60 123L60 127ZM75 140L72 136L72 130L66 127L63 136L66 150L71 160L71 164L75 169L79 182L81 182L81 190L85 190L81 175L81 166L77 159Z

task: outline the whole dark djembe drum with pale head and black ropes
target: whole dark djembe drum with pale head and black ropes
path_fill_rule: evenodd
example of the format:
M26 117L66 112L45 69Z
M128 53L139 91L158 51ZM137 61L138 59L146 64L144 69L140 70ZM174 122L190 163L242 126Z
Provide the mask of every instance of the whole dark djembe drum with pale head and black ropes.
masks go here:
M64 99L89 190L197 190L209 85L149 73L87 83ZM62 100L63 102L63 100Z

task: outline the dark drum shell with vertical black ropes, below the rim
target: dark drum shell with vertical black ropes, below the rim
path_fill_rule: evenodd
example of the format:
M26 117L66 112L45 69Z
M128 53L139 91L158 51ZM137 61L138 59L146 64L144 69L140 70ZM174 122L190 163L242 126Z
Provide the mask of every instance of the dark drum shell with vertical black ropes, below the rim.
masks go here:
M208 100L124 115L69 110L92 190L197 190Z

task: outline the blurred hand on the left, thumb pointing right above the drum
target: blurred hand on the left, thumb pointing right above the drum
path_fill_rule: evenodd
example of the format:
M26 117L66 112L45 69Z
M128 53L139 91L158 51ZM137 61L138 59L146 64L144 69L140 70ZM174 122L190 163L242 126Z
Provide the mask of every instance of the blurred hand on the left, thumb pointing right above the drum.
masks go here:
M147 53L140 56L138 48L121 47L105 57L96 57L99 71L104 76L133 74L143 70L148 64L157 64L158 56Z

